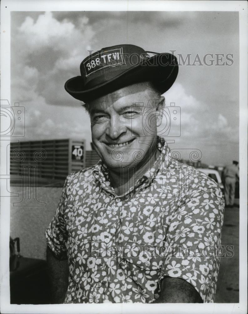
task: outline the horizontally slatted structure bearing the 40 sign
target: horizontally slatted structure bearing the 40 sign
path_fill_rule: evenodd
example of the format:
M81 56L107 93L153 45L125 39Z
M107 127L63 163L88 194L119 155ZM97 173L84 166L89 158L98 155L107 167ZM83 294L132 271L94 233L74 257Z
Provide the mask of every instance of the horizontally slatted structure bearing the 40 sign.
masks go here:
M11 185L60 186L85 168L85 140L54 139L10 144Z

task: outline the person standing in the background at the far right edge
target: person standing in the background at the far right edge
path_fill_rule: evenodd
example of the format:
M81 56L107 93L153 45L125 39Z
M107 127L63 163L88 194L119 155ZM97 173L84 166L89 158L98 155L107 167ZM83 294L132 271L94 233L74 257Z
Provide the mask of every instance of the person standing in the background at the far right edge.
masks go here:
M232 165L228 165L224 169L226 207L233 208L234 206L235 183L236 179L238 178L239 178L238 162L236 160L233 160Z

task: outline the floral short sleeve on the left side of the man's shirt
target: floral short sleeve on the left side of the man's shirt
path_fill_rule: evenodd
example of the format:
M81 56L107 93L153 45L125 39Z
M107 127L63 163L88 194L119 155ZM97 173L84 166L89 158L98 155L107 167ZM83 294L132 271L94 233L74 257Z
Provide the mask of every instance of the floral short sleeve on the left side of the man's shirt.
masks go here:
M45 232L47 245L55 256L61 260L67 258L66 242L68 236L64 217L65 206L68 200L67 192L68 187L66 179L55 215Z

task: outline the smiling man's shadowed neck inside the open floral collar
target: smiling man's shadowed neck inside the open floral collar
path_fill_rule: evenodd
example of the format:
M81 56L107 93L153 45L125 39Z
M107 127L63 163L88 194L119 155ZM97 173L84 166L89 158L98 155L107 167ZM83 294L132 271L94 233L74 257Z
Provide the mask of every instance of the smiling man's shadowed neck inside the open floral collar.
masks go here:
M154 162L158 159L161 152L156 148L150 159L147 160L141 167L132 172L132 167L123 168L122 173L120 171L109 170L109 179L112 187L117 195L126 193L130 187L133 187L137 179L144 175Z

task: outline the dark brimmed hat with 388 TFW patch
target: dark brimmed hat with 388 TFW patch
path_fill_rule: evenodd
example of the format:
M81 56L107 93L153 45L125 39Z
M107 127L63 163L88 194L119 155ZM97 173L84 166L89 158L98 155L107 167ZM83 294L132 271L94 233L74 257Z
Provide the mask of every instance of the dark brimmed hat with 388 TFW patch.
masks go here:
M163 94L177 77L178 62L170 53L145 51L124 44L90 54L81 62L80 74L65 83L65 90L85 103L143 81L151 81Z

